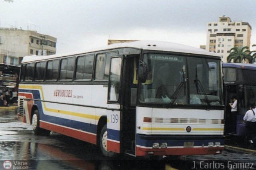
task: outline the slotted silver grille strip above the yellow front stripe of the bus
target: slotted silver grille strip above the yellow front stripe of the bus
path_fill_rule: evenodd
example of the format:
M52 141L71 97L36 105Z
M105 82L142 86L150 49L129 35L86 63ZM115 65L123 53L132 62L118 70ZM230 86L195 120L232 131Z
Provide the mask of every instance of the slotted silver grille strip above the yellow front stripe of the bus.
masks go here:
M200 123L200 124L221 124L221 119L188 119L188 118L152 118L154 123Z

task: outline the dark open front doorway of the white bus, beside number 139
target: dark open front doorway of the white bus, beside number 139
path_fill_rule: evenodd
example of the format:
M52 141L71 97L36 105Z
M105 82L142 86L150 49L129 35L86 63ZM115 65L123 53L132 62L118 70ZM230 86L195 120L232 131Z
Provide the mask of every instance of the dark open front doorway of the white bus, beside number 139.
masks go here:
M138 56L127 56L124 58L124 71L122 74L122 130L121 148L126 154L135 156L136 139L136 65L139 62Z

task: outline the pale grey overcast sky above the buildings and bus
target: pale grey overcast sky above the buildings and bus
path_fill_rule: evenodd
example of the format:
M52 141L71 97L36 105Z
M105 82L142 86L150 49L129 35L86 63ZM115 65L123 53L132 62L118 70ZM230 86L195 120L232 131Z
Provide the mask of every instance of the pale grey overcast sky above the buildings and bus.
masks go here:
M8 2L13 1L13 2ZM207 22L229 16L252 26L255 0L0 0L0 27L57 38L57 53L107 45L108 39L206 44Z

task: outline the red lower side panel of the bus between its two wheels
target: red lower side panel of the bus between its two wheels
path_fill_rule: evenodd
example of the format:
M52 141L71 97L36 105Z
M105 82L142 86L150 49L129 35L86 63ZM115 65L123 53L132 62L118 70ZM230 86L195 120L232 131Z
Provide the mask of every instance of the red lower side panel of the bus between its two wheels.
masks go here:
M40 121L40 128L52 130L54 132L64 134L66 136L70 136L86 142L90 142L92 144L96 144L96 140L97 140L96 134L93 135L93 134L89 134L79 130L74 130L74 129L70 129L70 128L66 128L66 127L62 127L54 124L49 124L47 122Z

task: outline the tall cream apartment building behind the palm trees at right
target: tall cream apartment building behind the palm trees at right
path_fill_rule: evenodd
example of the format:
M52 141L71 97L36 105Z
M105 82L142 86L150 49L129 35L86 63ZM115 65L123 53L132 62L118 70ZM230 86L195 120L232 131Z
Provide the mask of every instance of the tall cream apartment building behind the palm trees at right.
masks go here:
M250 47L252 27L248 22L232 22L227 16L219 17L219 22L207 23L206 50L220 53L227 62L230 49L234 46Z

